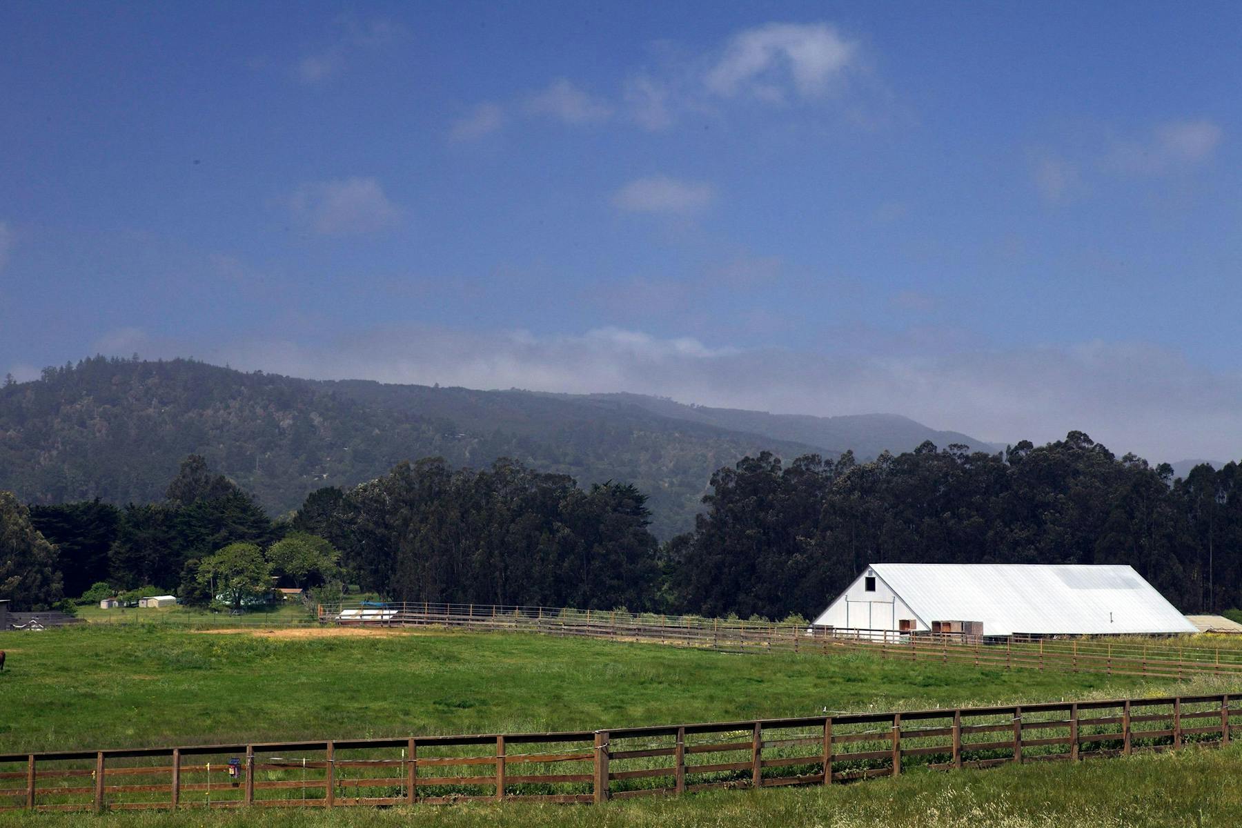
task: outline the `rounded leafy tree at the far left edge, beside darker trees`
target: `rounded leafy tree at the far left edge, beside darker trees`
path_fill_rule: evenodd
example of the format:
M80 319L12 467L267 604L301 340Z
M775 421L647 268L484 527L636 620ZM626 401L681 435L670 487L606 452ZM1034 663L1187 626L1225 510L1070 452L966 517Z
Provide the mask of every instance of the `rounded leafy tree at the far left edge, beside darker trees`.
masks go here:
M56 547L30 523L12 492L0 492L0 598L19 611L47 610L65 597Z

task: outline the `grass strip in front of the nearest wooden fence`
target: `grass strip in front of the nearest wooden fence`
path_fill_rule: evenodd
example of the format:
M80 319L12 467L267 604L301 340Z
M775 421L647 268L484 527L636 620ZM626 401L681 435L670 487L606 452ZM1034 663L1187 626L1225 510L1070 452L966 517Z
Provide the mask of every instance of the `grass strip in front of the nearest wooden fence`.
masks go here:
M828 788L635 799L604 806L457 807L91 814L0 813L0 828L862 828L1230 827L1242 812L1242 746L990 771L919 772Z

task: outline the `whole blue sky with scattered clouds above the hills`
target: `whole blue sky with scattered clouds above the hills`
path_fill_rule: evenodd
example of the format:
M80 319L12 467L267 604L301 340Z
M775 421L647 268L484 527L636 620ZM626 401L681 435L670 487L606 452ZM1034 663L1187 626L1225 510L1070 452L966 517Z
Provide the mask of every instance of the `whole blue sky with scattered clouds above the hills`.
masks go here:
M1237 457L1236 4L0 6L0 370Z

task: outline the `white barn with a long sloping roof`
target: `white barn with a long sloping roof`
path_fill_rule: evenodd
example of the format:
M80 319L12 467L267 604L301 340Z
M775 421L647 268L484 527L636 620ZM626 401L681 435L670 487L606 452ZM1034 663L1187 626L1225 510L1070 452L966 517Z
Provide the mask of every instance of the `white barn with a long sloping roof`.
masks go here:
M1130 566L872 564L812 623L930 631L981 622L984 636L1194 633Z

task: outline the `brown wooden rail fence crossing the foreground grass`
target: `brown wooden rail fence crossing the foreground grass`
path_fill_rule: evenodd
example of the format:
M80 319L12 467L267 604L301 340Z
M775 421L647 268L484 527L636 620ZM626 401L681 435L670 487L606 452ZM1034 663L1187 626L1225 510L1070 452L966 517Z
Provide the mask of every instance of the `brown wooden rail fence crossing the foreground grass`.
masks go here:
M1231 696L0 755L0 811L589 803L1221 746ZM1235 724L1236 722L1236 724ZM12 786L12 787L10 787Z

